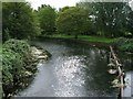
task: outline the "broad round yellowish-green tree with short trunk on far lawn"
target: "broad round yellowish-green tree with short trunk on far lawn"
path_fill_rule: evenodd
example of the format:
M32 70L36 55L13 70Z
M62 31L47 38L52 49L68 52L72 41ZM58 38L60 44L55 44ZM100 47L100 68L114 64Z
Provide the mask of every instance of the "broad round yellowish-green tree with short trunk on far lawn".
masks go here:
M72 34L76 38L79 34L85 32L89 21L86 10L71 7L60 12L57 19L57 29L59 33Z

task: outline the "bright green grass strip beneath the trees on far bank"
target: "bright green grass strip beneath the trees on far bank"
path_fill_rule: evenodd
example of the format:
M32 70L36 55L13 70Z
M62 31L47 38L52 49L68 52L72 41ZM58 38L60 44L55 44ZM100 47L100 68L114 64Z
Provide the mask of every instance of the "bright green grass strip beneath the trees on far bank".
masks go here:
M61 35L57 34L52 36L53 38L74 38L74 35ZM94 43L114 43L117 38L108 38L108 37L101 37L101 36L89 36L89 35L79 35L78 40L86 41L86 42L94 42Z

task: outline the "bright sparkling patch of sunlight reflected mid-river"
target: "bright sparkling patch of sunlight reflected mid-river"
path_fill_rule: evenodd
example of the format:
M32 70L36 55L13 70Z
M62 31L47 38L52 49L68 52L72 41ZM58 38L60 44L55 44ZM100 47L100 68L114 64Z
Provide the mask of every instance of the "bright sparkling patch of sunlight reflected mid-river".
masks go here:
M60 87L55 90L55 96L76 97L82 96L81 90L84 84L83 73L81 70L82 64L80 56L71 56L61 58L61 66L57 66L57 77Z

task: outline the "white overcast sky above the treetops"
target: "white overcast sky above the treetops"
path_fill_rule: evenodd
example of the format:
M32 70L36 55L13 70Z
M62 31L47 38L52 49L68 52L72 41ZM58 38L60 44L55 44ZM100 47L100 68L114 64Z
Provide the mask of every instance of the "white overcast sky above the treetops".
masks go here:
M33 9L38 9L41 4L50 4L51 7L59 10L59 8L63 8L65 6L75 6L80 0L25 0L31 3Z

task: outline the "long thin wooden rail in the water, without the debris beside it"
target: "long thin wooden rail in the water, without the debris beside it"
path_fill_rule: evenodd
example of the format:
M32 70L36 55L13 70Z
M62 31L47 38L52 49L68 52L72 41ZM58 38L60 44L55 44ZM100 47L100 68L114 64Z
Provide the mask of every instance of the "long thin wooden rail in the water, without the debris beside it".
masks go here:
M116 58L116 55L114 54L114 51L113 51L113 48L112 48L112 46L110 46L110 50L111 50L111 53L112 53L112 56L113 56L113 58L114 58L114 62L115 62L115 64L116 64L116 68L117 68L117 72L119 72L119 76L120 76L120 94L121 94L121 99L124 97L124 95L123 95L123 87L124 87L124 75L123 75L123 72L122 72L122 68L121 68L121 64L119 64L119 61L117 61L117 58Z

